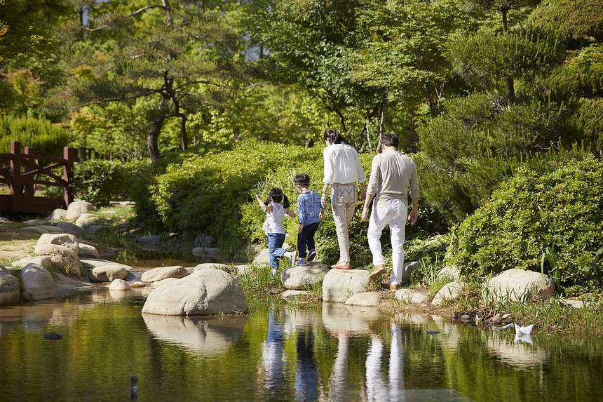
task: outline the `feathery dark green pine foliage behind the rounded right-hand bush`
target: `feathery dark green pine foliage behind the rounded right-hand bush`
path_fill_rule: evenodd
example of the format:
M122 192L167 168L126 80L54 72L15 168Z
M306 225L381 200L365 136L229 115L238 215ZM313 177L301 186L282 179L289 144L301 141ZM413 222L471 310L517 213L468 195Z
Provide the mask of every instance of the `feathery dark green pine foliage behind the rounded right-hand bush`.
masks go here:
M445 104L446 113L418 130L421 153L416 163L424 199L459 222L488 199L517 168L545 173L556 161L588 153L565 128L569 111L555 102L525 99L506 107L488 93L475 93Z

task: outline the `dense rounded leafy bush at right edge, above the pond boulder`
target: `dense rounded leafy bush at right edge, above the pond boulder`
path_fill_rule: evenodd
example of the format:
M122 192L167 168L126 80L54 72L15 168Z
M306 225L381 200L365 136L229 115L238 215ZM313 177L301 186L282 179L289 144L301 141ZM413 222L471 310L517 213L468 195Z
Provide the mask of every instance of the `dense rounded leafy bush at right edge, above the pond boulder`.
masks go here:
M449 262L463 274L510 268L550 275L568 295L603 288L603 162L520 170L457 228Z

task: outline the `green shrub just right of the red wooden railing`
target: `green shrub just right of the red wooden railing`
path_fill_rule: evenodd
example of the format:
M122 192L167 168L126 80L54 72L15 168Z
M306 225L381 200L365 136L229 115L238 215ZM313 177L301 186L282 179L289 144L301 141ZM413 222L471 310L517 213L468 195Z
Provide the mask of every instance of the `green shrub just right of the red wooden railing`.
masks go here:
M72 189L82 199L97 206L126 199L130 180L149 167L149 161L104 161L92 159L74 166Z

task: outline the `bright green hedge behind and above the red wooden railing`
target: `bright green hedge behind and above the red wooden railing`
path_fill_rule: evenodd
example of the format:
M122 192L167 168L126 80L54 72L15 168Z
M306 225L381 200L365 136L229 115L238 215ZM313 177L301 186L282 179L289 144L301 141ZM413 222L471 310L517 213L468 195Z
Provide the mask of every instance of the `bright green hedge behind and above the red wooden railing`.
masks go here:
M0 152L11 152L11 141L34 147L36 154L63 157L63 147L69 145L69 131L47 119L32 117L0 116Z

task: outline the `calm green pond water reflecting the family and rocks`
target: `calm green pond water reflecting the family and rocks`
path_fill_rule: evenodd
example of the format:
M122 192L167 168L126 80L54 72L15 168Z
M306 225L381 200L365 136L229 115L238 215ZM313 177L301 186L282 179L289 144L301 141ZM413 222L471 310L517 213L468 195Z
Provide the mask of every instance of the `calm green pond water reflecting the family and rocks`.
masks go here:
M0 307L0 401L602 398L599 339L530 344L436 316L274 300L243 316L143 316L145 297L97 288Z

